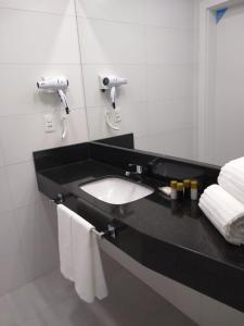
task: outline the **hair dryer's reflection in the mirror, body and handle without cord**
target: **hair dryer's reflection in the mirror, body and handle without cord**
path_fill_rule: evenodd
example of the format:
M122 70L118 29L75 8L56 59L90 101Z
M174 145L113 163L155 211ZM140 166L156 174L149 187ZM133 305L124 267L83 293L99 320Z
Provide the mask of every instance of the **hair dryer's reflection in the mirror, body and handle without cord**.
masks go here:
M111 92L111 102L112 106L116 109L116 88L128 84L128 80L126 78L121 78L118 76L99 76L100 80L100 89L102 91L110 90Z

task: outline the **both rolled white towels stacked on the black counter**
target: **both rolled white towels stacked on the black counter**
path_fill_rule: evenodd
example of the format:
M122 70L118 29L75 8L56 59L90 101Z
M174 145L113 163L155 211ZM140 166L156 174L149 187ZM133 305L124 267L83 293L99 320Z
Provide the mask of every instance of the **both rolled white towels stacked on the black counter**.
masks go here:
M200 208L226 238L234 244L244 243L244 158L226 164L219 185L205 189Z

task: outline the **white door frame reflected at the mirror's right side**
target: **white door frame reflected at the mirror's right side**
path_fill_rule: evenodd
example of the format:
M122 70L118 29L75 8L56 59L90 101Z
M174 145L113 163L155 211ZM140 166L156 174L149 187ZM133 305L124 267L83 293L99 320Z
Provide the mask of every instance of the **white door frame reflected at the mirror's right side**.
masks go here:
M216 16L215 10L244 3L244 0L204 0L200 2L197 160L215 162Z

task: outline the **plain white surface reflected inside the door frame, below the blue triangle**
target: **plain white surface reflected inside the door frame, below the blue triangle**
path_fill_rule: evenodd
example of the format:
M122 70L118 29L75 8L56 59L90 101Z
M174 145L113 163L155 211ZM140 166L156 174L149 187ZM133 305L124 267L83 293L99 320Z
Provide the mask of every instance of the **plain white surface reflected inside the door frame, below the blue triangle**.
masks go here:
M217 25L215 163L224 164L244 154L244 4L230 8ZM240 141L241 140L241 141Z

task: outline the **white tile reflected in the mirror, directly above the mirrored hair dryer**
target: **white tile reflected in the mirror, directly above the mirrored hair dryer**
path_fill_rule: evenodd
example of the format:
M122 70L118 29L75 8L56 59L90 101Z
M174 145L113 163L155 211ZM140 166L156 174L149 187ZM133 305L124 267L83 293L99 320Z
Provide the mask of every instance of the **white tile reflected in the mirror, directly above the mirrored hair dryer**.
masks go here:
M144 63L142 25L79 17L78 27L82 63Z

